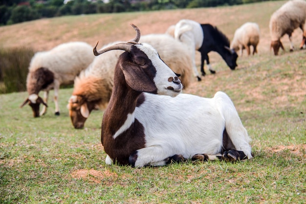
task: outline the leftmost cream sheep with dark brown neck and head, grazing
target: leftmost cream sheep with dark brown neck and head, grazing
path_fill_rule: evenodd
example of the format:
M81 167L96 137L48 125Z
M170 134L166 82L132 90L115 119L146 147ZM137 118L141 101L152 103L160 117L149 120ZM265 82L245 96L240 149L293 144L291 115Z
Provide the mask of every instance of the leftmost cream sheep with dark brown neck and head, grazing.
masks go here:
M29 97L21 107L29 104L34 117L46 113L48 94L54 89L55 114L59 115L58 91L60 85L73 84L74 78L94 59L92 46L83 42L70 42L58 45L49 51L37 52L32 58L26 79ZM44 91L44 100L38 95ZM39 113L39 106L43 110Z

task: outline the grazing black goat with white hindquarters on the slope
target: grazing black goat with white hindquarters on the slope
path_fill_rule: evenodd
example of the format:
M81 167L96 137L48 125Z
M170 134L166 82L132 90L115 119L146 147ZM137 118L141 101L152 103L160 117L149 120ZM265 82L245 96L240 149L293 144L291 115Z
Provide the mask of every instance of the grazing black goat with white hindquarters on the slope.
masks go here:
M176 23L174 33L175 39L185 43L187 46L193 46L191 49L198 50L201 53L202 76L206 74L204 60L206 60L210 72L216 73L209 62L208 53L210 51L218 52L232 70L237 67L238 55L236 51L229 48L230 41L216 26L183 19ZM192 57L195 59L194 53L192 53Z

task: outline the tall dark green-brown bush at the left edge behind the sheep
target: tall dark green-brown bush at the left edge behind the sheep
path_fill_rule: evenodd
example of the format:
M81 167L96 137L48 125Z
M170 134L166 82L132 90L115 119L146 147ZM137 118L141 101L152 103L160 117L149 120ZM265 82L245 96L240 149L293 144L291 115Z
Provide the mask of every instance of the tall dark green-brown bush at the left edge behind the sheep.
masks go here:
M31 48L0 49L0 93L26 91L26 76L34 55Z

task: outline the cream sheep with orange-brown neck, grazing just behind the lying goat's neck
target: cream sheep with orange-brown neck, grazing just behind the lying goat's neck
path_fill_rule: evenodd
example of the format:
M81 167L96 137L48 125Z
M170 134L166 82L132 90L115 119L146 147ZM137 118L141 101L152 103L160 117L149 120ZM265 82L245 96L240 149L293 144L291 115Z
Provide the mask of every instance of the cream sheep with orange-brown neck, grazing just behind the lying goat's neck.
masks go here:
M67 105L74 128L83 128L92 110L106 109L113 87L114 68L122 53L122 50L112 50L96 57L75 78L72 96Z

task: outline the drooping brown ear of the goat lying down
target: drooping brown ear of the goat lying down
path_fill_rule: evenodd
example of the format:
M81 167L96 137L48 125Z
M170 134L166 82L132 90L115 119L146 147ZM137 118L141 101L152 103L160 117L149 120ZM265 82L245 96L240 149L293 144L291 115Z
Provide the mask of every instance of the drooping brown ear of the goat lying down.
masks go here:
M157 88L154 82L144 72L143 68L131 62L121 64L121 69L127 84L135 91L156 93Z

